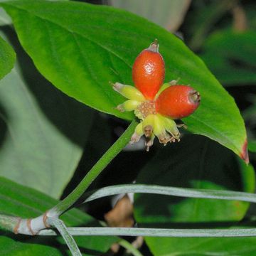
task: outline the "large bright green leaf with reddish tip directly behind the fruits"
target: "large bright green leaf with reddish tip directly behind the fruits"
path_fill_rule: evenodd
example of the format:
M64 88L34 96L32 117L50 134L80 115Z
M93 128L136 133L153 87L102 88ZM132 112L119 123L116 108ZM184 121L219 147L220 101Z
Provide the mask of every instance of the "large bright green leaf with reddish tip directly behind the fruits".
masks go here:
M158 38L166 81L181 78L201 92L201 107L184 119L203 134L246 157L246 133L238 107L203 62L171 33L144 18L109 6L65 1L6 1L23 48L60 90L97 110L132 119L114 107L124 98L109 81L132 84L138 53Z

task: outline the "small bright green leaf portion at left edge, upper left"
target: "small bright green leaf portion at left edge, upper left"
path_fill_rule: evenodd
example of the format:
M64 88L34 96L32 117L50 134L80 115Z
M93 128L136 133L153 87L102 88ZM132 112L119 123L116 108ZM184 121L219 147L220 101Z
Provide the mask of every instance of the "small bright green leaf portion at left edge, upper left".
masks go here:
M14 68L15 58L13 48L0 37L0 79Z

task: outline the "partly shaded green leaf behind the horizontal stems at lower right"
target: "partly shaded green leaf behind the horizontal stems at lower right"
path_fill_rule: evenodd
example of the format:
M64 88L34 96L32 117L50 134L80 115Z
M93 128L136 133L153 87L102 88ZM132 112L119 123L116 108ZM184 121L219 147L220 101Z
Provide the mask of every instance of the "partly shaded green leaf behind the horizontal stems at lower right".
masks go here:
M253 192L255 174L252 166L238 161L228 149L205 137L190 135L159 150L139 173L137 183ZM139 227L230 228L243 218L248 203L137 195L134 206ZM229 247L220 247L220 238L146 238L154 255L218 255L229 250L232 255L231 241L235 240L224 240ZM255 240L246 241L254 246ZM242 242L239 245L236 248L242 252Z

